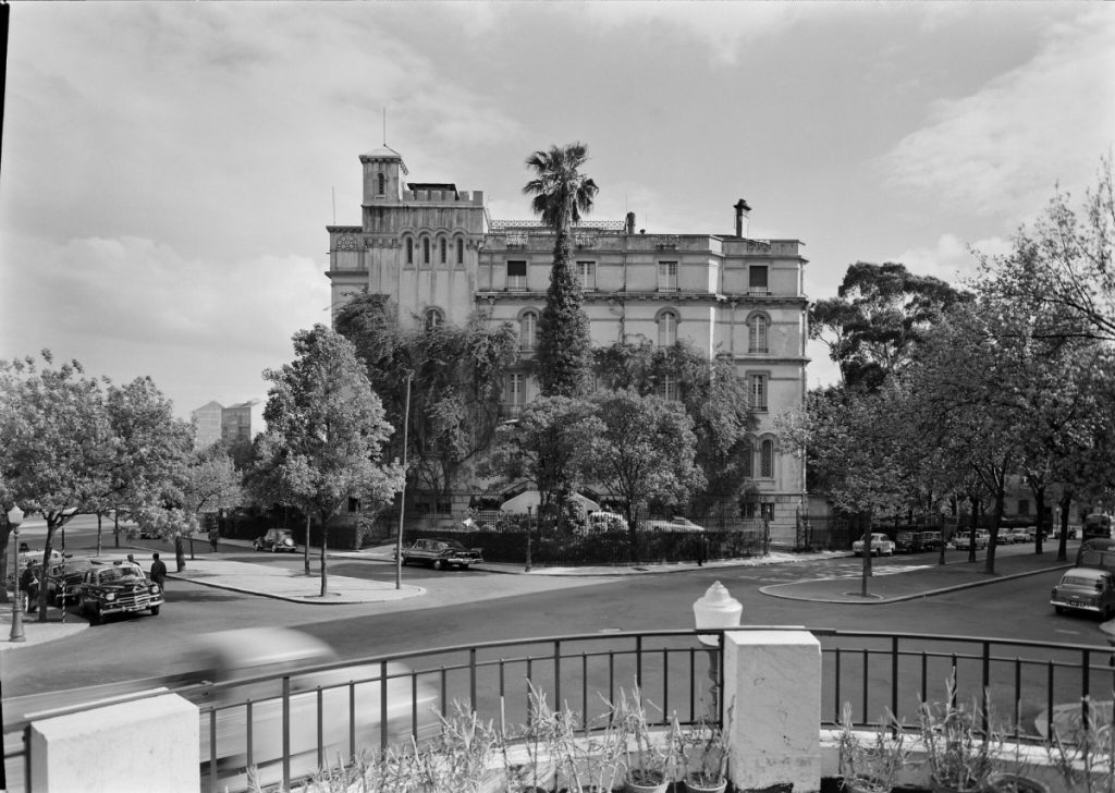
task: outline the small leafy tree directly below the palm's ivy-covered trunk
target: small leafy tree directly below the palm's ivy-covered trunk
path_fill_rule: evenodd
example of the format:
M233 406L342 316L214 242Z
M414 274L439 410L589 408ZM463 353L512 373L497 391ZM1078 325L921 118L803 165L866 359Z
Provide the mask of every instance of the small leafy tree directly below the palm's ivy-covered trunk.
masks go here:
M580 489L586 453L603 431L594 407L583 399L541 397L523 408L518 420L500 428L487 470L539 491L539 514L564 518Z

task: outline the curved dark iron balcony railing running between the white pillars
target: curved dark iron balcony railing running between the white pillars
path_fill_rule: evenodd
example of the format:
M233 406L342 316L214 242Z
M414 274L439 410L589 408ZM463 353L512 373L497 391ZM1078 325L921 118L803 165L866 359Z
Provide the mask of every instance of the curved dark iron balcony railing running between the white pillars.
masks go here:
M979 709L985 729L1040 741L1056 712L1079 713L1086 724L1083 698L1109 699L1115 689L1106 647L806 630L822 646L818 728L835 726L844 703L857 725L876 724L890 709L912 727L921 703L951 694ZM660 724L671 715L682 724L707 716L723 723L725 704L715 696L724 680L723 634L701 632L718 634L719 645L698 642L692 630L605 630L379 656L177 690L200 707L203 791L248 789L250 766L259 767L258 782L289 787L321 765L336 766L338 757L432 736L433 710L448 713L455 702L504 727L525 724L527 681L555 707L574 710L582 728L632 684ZM737 718L744 715L737 709ZM30 790L29 736L30 724L6 726L9 790Z

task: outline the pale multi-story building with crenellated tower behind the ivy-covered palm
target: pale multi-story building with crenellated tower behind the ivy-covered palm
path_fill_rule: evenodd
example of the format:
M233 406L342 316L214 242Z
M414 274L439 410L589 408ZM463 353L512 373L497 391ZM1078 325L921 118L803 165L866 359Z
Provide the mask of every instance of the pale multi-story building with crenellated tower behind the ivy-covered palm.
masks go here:
M403 157L390 148L360 163L361 224L327 226L334 311L367 289L388 296L404 322L464 323L478 313L515 323L523 359L532 356L553 232L536 221L491 220L481 191L406 182ZM806 260L797 240L750 239L750 206L740 200L731 209L735 228L723 234L647 233L633 213L583 222L574 229L573 259L593 344L685 340L731 361L757 417L739 512L769 519L772 540L793 542L804 513L804 465L778 444L774 417L805 398ZM504 390L508 416L535 396L526 367L513 368ZM464 502L468 494L466 484Z

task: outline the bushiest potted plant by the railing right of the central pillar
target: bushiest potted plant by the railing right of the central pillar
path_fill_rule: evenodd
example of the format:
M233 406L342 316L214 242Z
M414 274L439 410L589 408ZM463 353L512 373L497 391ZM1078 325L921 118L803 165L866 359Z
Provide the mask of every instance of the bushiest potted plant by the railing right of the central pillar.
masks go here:
M981 712L957 705L953 679L946 684L943 705L922 703L918 709L921 739L934 793L975 793L996 771L997 745L978 726Z

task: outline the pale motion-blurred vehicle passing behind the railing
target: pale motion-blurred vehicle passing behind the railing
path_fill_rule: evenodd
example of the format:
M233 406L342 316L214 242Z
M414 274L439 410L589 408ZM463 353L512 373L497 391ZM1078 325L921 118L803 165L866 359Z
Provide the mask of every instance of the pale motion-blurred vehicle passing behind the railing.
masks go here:
M281 783L284 732L292 781L338 757L378 751L385 737L398 744L438 732L436 689L407 667L346 665L327 644L298 630L201 636L191 668L201 685L182 695L201 705L203 785L215 775L206 790L246 789L251 766L260 787Z

